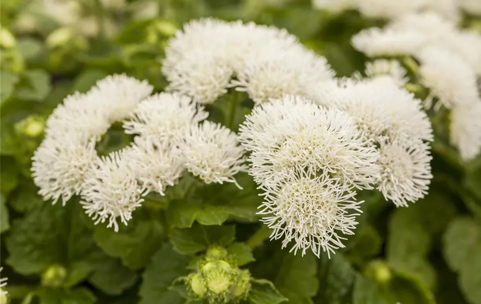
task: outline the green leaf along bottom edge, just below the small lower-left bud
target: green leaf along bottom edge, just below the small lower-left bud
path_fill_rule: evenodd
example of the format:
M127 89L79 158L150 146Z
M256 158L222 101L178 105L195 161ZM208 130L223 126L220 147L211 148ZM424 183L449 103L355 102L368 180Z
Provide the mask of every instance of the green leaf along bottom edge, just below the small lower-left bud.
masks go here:
M96 297L85 287L74 289L41 288L37 291L40 304L94 304Z

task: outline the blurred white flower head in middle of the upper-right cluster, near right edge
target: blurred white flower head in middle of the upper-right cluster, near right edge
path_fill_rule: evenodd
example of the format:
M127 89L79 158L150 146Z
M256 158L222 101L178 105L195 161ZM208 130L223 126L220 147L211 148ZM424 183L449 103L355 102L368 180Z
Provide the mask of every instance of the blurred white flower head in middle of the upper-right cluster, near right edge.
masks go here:
M422 84L439 99L439 105L452 108L471 104L479 99L476 75L456 54L441 48L428 47L418 52Z

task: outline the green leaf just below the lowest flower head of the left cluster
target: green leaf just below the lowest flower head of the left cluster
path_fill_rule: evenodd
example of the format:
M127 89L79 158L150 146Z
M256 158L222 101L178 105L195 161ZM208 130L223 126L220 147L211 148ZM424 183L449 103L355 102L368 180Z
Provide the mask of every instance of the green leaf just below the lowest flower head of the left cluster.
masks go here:
M135 218L134 218L135 219ZM161 246L163 228L153 220L131 221L115 233L104 225L94 229L97 245L110 256L119 257L132 270L144 267Z

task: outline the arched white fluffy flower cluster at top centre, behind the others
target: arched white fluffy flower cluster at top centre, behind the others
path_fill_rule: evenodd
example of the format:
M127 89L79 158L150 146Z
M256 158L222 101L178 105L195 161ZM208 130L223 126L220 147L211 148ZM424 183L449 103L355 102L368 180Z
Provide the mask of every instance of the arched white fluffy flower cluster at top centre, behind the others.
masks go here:
M192 47L195 46L195 47ZM326 59L304 48L286 30L216 19L191 21L166 48L167 90L212 103L230 87L256 103L333 77Z

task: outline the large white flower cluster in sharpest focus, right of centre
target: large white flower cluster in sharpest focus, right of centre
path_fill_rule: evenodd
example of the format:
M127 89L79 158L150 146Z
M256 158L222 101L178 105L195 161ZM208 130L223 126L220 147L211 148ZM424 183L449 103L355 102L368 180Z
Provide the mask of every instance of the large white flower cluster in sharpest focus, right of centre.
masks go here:
M344 247L341 234L353 234L361 212L356 189L377 185L407 206L432 177L432 130L412 94L385 78L321 87L313 101L285 96L255 107L239 128L265 196L262 221L302 254Z

